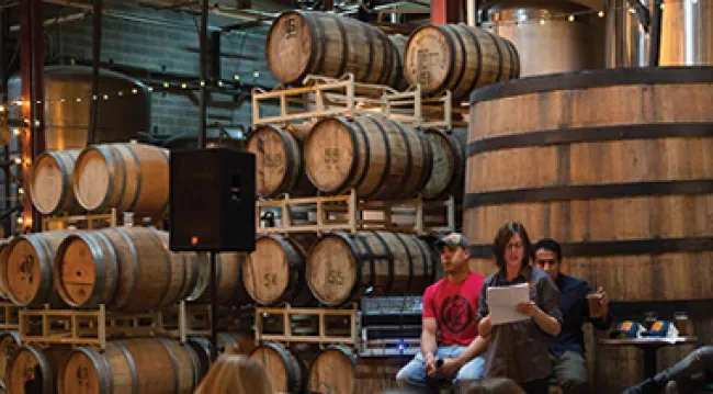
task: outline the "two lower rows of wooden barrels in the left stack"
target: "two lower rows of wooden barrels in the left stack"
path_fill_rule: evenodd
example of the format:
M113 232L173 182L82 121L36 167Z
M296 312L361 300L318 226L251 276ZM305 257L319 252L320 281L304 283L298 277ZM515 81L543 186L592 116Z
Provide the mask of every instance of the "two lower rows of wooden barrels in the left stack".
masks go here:
M117 315L204 301L207 258L172 252L168 243L168 233L154 227L22 235L0 251L0 295L18 307L95 309L103 304ZM250 302L239 260L237 254L223 254L218 259L218 297L225 305ZM27 328L38 335L37 327ZM188 394L208 368L204 338L191 338L189 346L156 337L110 340L104 352L92 347L39 347L20 339L16 333L5 333L0 339L0 367L8 365L2 372L13 393L24 393L25 387L35 387L33 393L111 393L148 385ZM219 335L220 348L236 345L241 352L251 351L252 335Z

